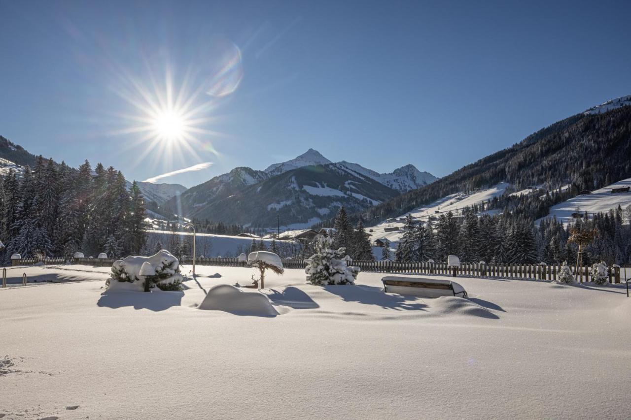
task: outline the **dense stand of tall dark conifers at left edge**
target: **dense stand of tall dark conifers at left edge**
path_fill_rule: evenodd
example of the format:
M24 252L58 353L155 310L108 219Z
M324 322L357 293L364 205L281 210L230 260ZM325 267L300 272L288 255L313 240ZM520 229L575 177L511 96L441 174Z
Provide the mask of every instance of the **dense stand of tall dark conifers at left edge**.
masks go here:
M78 169L38 156L33 168L9 170L0 183L0 231L12 254L28 257L110 258L146 255L144 197L136 182L127 189L121 171L88 161Z

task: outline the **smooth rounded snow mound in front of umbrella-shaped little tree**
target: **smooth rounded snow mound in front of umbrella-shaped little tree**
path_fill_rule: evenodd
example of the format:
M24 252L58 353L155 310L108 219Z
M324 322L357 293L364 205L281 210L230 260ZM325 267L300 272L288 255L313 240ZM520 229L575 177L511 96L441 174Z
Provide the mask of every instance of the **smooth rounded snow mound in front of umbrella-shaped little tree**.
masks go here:
M230 284L213 286L199 305L199 309L256 317L275 317L278 315L267 296L258 292L245 292Z

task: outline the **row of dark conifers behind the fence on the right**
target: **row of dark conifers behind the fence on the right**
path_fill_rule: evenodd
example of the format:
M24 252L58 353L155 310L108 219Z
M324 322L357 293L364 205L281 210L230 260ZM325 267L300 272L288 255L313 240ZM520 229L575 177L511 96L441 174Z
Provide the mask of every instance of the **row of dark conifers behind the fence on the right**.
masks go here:
M584 250L584 264L604 261L606 264L627 264L631 255L631 206L611 209L608 213L584 213L574 223L563 225L556 218L543 219L535 226L532 219L500 214L491 216L467 211L455 216L441 214L435 225L416 223L406 217L401 240L394 258L404 262L445 261L457 255L462 262L487 264L574 264L577 245L569 242L570 228L595 228L596 239ZM384 249L384 259L390 257Z

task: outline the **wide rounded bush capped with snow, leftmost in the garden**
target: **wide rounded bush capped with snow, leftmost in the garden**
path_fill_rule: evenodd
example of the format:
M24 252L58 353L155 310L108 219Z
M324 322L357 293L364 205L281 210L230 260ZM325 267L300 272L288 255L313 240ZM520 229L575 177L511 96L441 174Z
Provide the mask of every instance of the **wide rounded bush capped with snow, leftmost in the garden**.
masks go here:
M180 266L167 250L161 250L151 257L129 256L112 264L112 280L133 283L136 289L144 289L144 280L150 281L150 288L162 290L182 290ZM110 281L109 284L112 284Z

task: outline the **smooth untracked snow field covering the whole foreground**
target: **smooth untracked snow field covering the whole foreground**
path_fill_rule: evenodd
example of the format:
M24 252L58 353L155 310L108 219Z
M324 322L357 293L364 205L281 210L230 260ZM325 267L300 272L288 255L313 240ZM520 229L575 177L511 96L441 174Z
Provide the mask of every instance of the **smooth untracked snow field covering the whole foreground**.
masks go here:
M197 308L253 269L105 295L107 268L9 277L24 270L91 281L0 289L8 419L631 417L620 285L461 277L470 300L430 300L384 294L381 274L322 288L286 270L266 277L278 315L259 317Z

